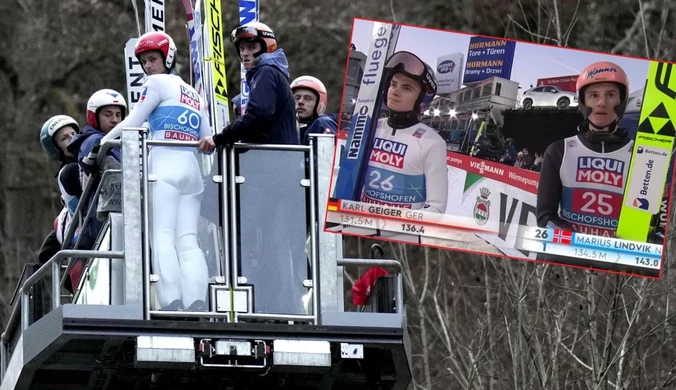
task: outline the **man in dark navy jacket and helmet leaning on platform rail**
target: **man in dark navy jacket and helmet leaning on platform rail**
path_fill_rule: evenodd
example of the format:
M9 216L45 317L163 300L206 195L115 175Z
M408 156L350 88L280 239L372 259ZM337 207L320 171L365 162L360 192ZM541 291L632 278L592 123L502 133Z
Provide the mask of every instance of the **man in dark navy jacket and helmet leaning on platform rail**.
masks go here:
M247 70L246 111L222 132L201 140L200 149L211 151L238 141L300 144L289 64L284 51L277 48L274 33L265 24L253 22L233 30L231 40Z

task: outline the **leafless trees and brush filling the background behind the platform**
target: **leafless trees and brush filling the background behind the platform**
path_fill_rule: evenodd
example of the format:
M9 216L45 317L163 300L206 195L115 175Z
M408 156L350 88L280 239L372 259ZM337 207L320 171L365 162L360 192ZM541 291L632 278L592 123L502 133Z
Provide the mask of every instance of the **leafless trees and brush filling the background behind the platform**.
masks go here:
M167 3L167 31L187 76L182 7ZM355 16L652 59L673 61L676 55L671 0L261 3L261 21L275 30L292 77L321 77L333 112ZM227 33L238 23L238 8L235 1L222 8ZM36 261L61 207L56 166L39 145L40 126L58 113L84 121L91 93L123 91L123 48L135 33L126 0L0 2L2 328L16 278L24 263ZM230 45L226 58L234 96L239 63ZM672 244L669 239L659 281L385 244L407 271L411 388L676 388ZM353 256L366 254L368 245L345 241Z

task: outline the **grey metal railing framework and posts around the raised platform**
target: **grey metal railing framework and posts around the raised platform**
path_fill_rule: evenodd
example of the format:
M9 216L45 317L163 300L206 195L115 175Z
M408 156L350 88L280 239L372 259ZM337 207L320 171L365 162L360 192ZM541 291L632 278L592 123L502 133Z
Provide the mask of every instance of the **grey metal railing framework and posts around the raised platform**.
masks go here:
M129 150L123 150L123 169L119 170L107 170L104 171L101 175L101 180L99 185L96 187L96 190L93 192L93 196L98 196L101 191L102 183L105 182L105 175L113 174L116 172L122 171L123 173L123 202L125 204L125 212L123 217L125 218L125 231L124 238L125 241L132 240L134 243L124 244L124 251L99 251L99 250L77 250L77 249L65 249L58 252L54 255L49 261L47 261L37 272L30 276L20 287L19 296L21 299L14 305L10 319L7 323L5 331L0 337L2 344L0 345L0 353L2 354L2 361L4 364L0 366L0 370L5 370L5 364L9 359L9 343L13 337L14 332L16 331L17 325L20 320L21 331L27 329L30 324L29 317L29 308L30 308L30 292L34 284L42 279L45 275L51 272L52 275L52 285L51 291L53 295L52 309L56 309L61 305L61 287L66 279L66 275L70 272L72 264L69 264L65 267L64 277L60 277L60 272L62 272L62 263L65 259L69 258L82 258L82 259L124 259L125 267L125 305L142 305L143 312L142 318L149 320L152 317L156 318L166 318L166 317L181 317L181 318L228 318L231 316L231 312L234 311L234 308L231 308L229 312L175 312L175 311L158 311L151 310L150 304L150 269L151 269L151 257L150 257L150 236L149 236L149 185L150 181L153 181L154 178L152 174L148 172L148 160L149 160L149 147L150 146L162 146L162 147L190 147L194 148L197 146L198 142L186 142L186 141L170 141L170 140L149 140L147 139L148 130L146 128L128 128L124 129L123 138L121 141L108 141L101 146L101 151L99 154L99 159L105 157L106 152L115 147L121 146L122 149L127 147ZM141 135L140 142L138 142L138 135ZM317 138L321 138L323 135L318 135ZM219 193L222 200L218 203L220 208L220 218L222 223L220 228L223 230L222 237L218 239L218 244L222 245L223 250L217 252L218 259L220 262L221 272L219 276L224 276L222 280L225 281L225 286L230 287L232 290L246 290L247 286L240 286L238 282L238 275L240 273L238 259L239 259L239 250L238 247L238 237L237 232L240 229L237 222L237 212L239 209L238 204L238 195L237 195L237 185L240 184L237 182L237 154L239 150L242 149L256 149L256 150L272 150L272 151L297 151L306 153L306 157L309 156L307 163L309 164L309 177L306 176L306 179L309 182L309 209L310 209L310 220L309 222L309 236L310 236L310 250L309 250L309 265L311 268L311 285L306 287L311 287L312 292L312 314L311 315L297 315L297 314L267 314L267 313L255 313L252 310L252 294L248 294L248 312L238 312L235 313L234 320L238 319L257 319L257 320L282 320L282 321L299 321L307 322L312 321L313 324L321 324L321 308L322 301L321 297L328 301L332 301L337 297L334 291L336 289L336 279L335 279L335 267L342 267L346 265L360 265L360 266L381 266L386 268L392 268L396 270L396 311L397 313L404 313L404 304L403 304L403 277L402 277L402 267L401 264L395 260L383 260L383 259L342 259L341 253L342 246L340 246L340 240L337 239L337 246L334 243L331 243L329 246L329 252L335 251L336 258L330 259L330 261L324 263L322 262L322 267L332 266L333 270L322 271L322 275L331 275L333 272L333 279L329 279L327 276L326 292L321 292L320 286L320 261L319 261L319 251L320 251L320 242L319 240L328 240L333 239L335 234L320 232L318 225L323 225L324 216L319 214L318 208L323 208L322 205L325 205L326 199L324 199L325 194L328 193L328 184L330 179L327 180L326 177L319 177L317 175L326 175L327 172L330 172L332 169L332 163L330 161L321 161L316 163L315 156L315 140L314 137L310 138L309 146L301 145L262 145L262 144L245 144L237 143L233 146L229 146L225 149L224 152L220 153L220 160L217 166L220 166L220 174L213 175L213 181L220 183ZM330 148L330 145L325 142L317 142L319 145L323 145L322 148ZM131 146L131 147L129 147ZM140 148L140 154L139 150ZM132 150L133 149L133 150ZM321 149L321 148L320 148ZM323 150L323 149L322 149ZM327 153L327 150L320 150L319 155L324 156ZM325 157L325 156L324 156ZM127 164L127 165L125 165ZM319 173L315 172L315 165L317 164L318 169L321 171ZM213 166L213 164L212 164ZM110 173L109 173L110 172ZM224 177L227 177L224 180ZM140 180L139 180L140 179ZM308 180L309 179L309 180ZM81 212L84 209L84 205L87 203L85 201L86 196L93 191L95 180L90 180L87 183L85 190L83 191L83 197L80 200L76 214L81 216ZM318 187L319 183L319 187ZM140 185L139 185L140 184ZM129 187L128 187L129 186ZM307 185L303 185L307 186ZM228 188L229 187L229 188ZM321 187L321 188L320 188ZM327 188L323 188L327 187ZM139 199L139 195L140 198ZM321 198L320 198L321 196ZM136 203L134 203L136 202ZM87 213L87 218L91 216L92 210L94 209L95 202L90 202L91 206ZM131 210L131 214L129 214ZM139 212L140 211L140 212ZM81 219L79 219L81 220ZM64 243L72 240L72 236L77 228L78 221L73 219L71 221L71 226L68 229L66 238L64 238ZM133 226L131 229L133 231L127 231L127 223L132 222ZM140 222L140 224L139 224ZM138 225L140 225L140 234L137 234ZM83 224L84 225L84 224ZM139 243L138 239L135 237L141 237L141 242ZM330 237L330 238L327 238ZM339 236L337 236L339 237ZM68 240L66 240L68 239ZM139 245L141 244L141 245ZM64 244L65 245L65 244ZM130 246L131 245L131 246ZM134 245L138 245L134 246ZM326 245L326 242L324 244ZM137 249L138 248L138 249ZM322 247L323 248L323 247ZM340 248L340 249L339 249ZM327 249L322 249L322 256L326 253ZM130 263L125 257L131 256L133 264ZM140 257L140 259L139 259ZM330 256L329 256L330 257ZM87 262L90 264L91 262ZM131 267L131 268L130 268ZM142 276L136 281L129 281L129 273L131 272L134 275L135 272L141 271ZM138 276L136 276L138 277ZM323 277L323 276L322 276ZM138 283L138 284L135 284ZM248 291L251 292L250 290ZM337 299L337 298L336 298ZM342 312L344 308L337 307L335 302L327 302L329 311L339 311ZM140 309L139 309L140 310ZM141 316L141 312L139 312ZM231 318L233 319L233 318Z

